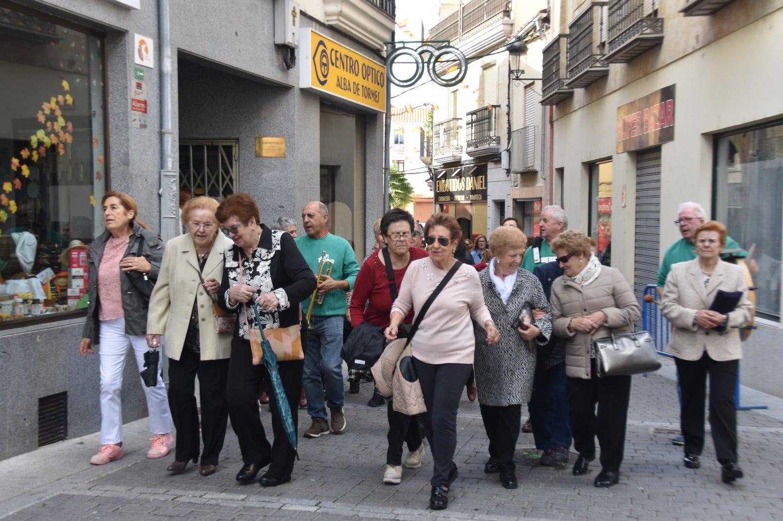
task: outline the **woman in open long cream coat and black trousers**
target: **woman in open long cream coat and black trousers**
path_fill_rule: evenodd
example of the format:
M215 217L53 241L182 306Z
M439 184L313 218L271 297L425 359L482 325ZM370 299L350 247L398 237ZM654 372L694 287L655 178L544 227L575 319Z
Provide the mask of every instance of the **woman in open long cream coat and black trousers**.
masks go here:
M184 472L199 461L200 474L217 470L226 439L226 382L231 333L215 332L212 298L223 277L223 254L231 241L220 233L211 197L189 199L182 206L188 233L166 243L163 264L150 297L147 345L160 346L165 336L168 357L168 404L177 430L174 462L168 472ZM201 419L196 407L199 379ZM199 425L200 423L200 425ZM200 434L199 434L200 426ZM199 451L200 438L204 447Z

